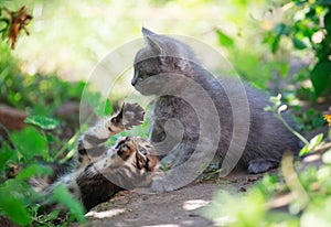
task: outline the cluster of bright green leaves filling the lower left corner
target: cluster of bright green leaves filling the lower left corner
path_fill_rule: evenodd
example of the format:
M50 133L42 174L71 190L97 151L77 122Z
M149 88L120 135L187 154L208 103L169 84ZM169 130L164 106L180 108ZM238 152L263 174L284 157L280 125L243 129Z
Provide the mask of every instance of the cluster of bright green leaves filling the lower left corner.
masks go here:
M28 184L32 176L52 176L53 170L45 163L57 163L54 155L51 155L51 131L44 130L52 127L53 122L43 121L43 123L39 122L39 126L30 126L22 131L12 132L10 142L1 141L0 215L6 215L13 223L22 226L52 226L55 220L58 221L58 212L56 215L54 212L51 214L43 212L44 205L47 204L45 199L47 199L63 204L70 210L68 217L73 218L72 220L84 221L83 206L73 197L71 198L65 188L58 188L45 198L45 195L36 193ZM8 179L8 171L15 169L19 172L14 173L14 179Z

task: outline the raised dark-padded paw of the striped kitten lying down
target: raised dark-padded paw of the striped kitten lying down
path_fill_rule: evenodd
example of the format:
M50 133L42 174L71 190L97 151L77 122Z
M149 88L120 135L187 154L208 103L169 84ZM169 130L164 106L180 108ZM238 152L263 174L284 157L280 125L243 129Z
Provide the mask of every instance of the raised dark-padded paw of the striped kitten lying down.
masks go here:
M121 125L126 130L143 123L145 109L139 104L125 102L117 116L111 118L113 123Z

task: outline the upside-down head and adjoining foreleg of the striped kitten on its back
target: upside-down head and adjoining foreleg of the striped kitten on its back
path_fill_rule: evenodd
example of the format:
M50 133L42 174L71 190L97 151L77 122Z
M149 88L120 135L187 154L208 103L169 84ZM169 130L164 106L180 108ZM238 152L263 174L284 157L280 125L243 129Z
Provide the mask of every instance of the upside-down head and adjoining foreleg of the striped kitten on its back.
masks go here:
M79 174L78 184L115 184L132 190L151 184L160 172L160 160L153 145L140 137L122 137L108 149L103 159L87 165Z

